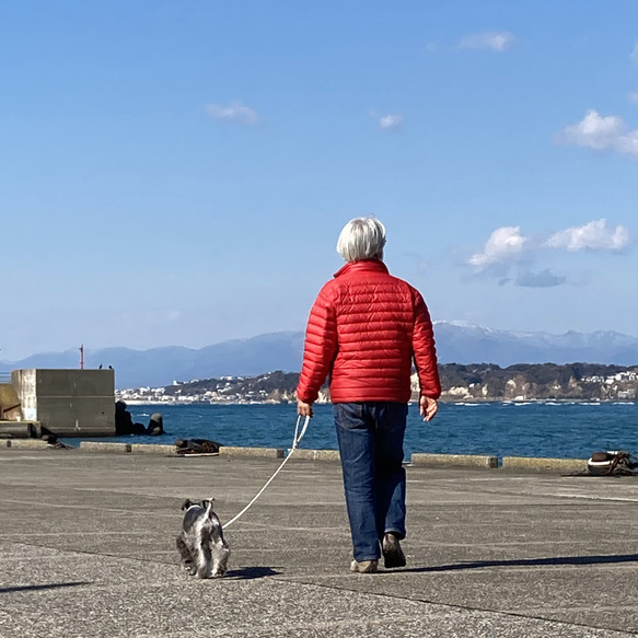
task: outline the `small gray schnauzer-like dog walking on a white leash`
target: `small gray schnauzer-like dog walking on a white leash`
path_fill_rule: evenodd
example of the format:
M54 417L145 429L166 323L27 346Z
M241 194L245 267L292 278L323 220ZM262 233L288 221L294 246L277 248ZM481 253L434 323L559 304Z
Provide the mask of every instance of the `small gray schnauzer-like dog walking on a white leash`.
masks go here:
M231 555L230 547L223 540L219 518L212 511L213 500L186 500L182 504L182 510L186 513L182 533L176 541L177 549L184 567L189 570L190 576L197 575L197 578L223 576Z

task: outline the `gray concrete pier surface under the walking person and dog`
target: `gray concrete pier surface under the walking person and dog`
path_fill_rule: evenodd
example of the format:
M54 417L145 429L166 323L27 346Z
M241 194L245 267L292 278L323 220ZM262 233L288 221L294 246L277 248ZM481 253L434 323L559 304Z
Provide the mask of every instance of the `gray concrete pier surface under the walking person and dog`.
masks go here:
M638 478L408 467L408 566L348 570L337 464L291 459L194 580L185 498L230 520L276 459L0 449L0 636L638 633Z

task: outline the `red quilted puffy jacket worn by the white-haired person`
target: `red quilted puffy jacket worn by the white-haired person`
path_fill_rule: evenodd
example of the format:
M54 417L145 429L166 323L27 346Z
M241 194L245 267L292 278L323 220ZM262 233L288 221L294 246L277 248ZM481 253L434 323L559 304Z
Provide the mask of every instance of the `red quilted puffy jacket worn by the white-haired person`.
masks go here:
M351 262L312 306L297 395L312 404L329 373L333 403L407 403L413 358L421 395L438 398L434 334L424 298L383 262Z

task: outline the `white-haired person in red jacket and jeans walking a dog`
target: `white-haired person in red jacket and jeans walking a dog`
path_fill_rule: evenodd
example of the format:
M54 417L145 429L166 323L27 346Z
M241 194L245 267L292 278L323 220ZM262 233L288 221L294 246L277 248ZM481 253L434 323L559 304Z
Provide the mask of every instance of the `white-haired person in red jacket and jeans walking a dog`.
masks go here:
M441 394L432 322L421 294L383 263L385 228L375 218L349 221L337 251L347 264L320 291L305 333L298 414L329 375L350 521L352 571L405 566L403 441L413 361L426 421Z

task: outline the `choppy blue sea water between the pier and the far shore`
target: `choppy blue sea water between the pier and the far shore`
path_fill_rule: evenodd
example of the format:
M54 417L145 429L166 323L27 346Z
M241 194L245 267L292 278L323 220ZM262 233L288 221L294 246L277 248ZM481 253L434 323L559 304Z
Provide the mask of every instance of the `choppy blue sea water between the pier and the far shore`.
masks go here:
M289 449L297 422L290 405L130 405L134 421L148 425L160 413L166 434L101 439L173 443L176 439L212 439L223 445ZM314 418L300 445L336 450L330 405L314 406ZM588 459L592 452L638 453L638 406L618 403L440 404L425 424L411 404L405 438L406 460L413 452Z

